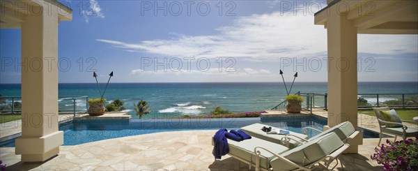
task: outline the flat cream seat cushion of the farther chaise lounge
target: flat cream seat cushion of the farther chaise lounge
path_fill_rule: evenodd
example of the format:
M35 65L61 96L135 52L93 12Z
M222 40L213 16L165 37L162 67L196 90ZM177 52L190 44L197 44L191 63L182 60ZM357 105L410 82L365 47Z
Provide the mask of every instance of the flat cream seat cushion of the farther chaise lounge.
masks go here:
M262 140L267 140L267 141L274 142L274 143L277 143L277 144L282 144L281 143L281 138L285 137L286 135L267 134L264 131L261 131L261 128L263 128L263 126L270 127L268 125L256 123L256 124L251 124L249 126L244 126L244 127L241 128L241 130L245 131L245 133L247 133L248 135L251 135L251 137L258 137ZM296 136L296 137L303 138L305 140L308 139L308 136L304 135L302 133L295 133L295 132L290 131L290 134L293 135L293 136ZM293 145L299 144L299 143L297 143L294 140L291 140L290 144L291 144L291 148L293 148Z

